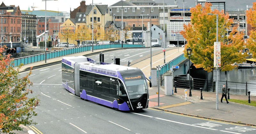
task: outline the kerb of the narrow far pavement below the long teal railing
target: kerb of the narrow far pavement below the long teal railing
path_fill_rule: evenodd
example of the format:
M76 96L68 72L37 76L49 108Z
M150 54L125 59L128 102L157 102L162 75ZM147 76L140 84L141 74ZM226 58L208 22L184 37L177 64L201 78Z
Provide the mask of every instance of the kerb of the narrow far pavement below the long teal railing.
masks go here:
M104 51L98 51L98 52L92 52L92 53L89 53L89 54L85 54L83 56L91 56L91 55L95 55L95 54L100 54L101 52L109 52L109 51L116 51L116 50L122 50L122 49L136 49L138 47L131 47L131 48L116 48L116 49L110 49L110 50L104 50ZM143 47L143 48L148 48L148 47ZM65 55L66 56L66 55ZM68 56L68 55L67 55ZM43 61L43 60L42 60ZM55 62L51 62L51 63L46 63L46 64L43 64L43 65L38 65L38 66L33 66L32 70L33 69L38 69L38 68L41 68L41 67L46 67L46 66L51 66L51 65L55 65L55 64L59 64L61 63L61 60L59 61L55 61ZM27 65L27 64L26 64ZM26 72L26 71L29 71L30 70L30 67L27 67L25 68L24 70L20 71L19 73L22 73L22 72Z

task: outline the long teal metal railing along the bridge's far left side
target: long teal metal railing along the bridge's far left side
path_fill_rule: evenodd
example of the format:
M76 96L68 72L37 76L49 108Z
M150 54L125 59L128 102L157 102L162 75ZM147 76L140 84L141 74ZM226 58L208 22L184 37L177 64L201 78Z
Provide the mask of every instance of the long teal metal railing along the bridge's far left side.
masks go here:
M122 44L101 44L101 45L93 45L93 50L99 50L99 49L108 49L108 48L121 48ZM123 48L129 48L129 47L141 47L141 45L137 44L123 44ZM84 51L91 51L92 46L81 46L81 47L74 47L74 48L67 48L63 50L58 51L51 51L46 53L46 59L52 59L60 56L65 56L69 54L84 52ZM14 67L22 64L29 64L34 63L37 61L45 60L45 53L21 57L13 60Z

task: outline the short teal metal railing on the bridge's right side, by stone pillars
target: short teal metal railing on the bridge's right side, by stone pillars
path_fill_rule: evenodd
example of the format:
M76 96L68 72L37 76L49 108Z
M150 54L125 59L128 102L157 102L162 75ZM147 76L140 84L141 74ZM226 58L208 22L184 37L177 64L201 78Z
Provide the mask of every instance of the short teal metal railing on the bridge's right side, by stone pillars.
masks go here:
M186 57L184 57L184 54L180 54L178 57L170 60L169 62L165 63L164 65L160 66L160 72L159 75L163 75L164 73L166 73L167 71L170 70L170 68L172 68L172 66L176 66L178 65L180 62L182 62L184 59L187 59ZM158 77L158 73L157 73L157 77Z

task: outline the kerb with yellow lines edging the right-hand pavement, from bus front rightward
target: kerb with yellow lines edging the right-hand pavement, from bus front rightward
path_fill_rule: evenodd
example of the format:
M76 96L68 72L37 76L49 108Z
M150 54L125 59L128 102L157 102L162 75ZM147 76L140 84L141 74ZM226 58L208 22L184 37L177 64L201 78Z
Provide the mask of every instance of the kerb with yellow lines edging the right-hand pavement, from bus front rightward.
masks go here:
M256 126L256 124L248 124L248 123L243 123L243 122L234 122L234 121L223 120L223 119L218 119L218 118L205 117L205 116L194 115L194 114L187 114L187 113L167 110L167 109L163 109L163 108L158 108L158 107L151 107L151 108L163 110L163 111L166 111L166 112L176 113L176 114L183 114L183 115L188 115L188 116L193 116L193 117L198 117L198 118L210 119L210 120L214 120L214 121L229 122L229 123L235 123L235 124L241 124L241 125L247 125L247 126Z

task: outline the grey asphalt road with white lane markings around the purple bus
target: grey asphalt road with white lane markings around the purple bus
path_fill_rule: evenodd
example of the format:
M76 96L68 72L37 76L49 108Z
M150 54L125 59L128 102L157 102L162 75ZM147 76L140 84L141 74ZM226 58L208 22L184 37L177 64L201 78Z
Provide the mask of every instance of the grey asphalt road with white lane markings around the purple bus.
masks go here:
M154 48L157 49L157 48ZM158 48L159 49L159 48ZM139 50L139 51L137 51ZM118 50L104 53L105 62L111 58L140 60L148 55L146 49ZM129 55L129 56L128 56ZM97 59L98 55L90 56ZM123 60L122 60L123 59ZM25 75L26 72L21 73ZM31 89L38 96L38 116L33 117L37 125L28 126L35 133L256 133L256 128L227 122L200 119L180 114L144 109L138 112L121 112L74 96L61 84L61 64L32 71L29 79Z

